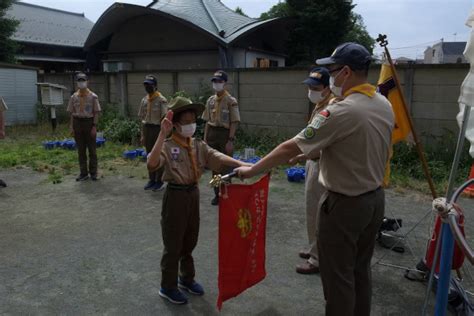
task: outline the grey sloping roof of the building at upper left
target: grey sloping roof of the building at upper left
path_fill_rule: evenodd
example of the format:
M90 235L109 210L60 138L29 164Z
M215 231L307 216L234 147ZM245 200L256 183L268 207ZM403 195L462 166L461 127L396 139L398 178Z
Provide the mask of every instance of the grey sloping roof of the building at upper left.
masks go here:
M24 43L83 47L94 23L83 13L72 13L25 2L15 2L7 15L20 21L13 39Z

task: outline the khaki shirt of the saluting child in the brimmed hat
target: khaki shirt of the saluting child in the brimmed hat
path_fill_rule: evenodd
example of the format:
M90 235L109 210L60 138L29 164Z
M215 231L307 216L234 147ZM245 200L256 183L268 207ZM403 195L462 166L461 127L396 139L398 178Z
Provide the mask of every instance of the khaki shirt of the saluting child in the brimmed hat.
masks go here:
M199 178L204 173L204 168L220 171L221 159L224 154L209 147L205 142L193 139L191 142L196 157ZM160 162L157 169L164 166L163 181L174 184L189 185L196 182L192 163L186 148L181 147L171 138L163 144Z

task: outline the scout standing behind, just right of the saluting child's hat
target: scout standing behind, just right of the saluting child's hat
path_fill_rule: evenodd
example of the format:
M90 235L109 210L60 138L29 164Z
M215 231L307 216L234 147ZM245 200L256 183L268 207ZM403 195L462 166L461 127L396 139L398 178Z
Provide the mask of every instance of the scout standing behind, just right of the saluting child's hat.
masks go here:
M212 148L228 156L233 155L235 132L240 122L237 100L227 90L227 73L217 71L211 78L212 88L216 92L207 100L206 109L202 115L207 121L204 129L204 141ZM214 188L212 205L219 204L219 188Z

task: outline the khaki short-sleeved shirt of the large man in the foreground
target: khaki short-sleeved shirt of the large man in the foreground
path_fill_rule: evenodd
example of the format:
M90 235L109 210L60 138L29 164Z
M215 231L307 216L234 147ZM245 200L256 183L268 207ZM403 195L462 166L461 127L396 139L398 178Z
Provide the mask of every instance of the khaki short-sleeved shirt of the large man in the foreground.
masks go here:
M319 182L357 196L382 185L394 126L390 102L354 93L329 105L294 140L308 157L321 152Z

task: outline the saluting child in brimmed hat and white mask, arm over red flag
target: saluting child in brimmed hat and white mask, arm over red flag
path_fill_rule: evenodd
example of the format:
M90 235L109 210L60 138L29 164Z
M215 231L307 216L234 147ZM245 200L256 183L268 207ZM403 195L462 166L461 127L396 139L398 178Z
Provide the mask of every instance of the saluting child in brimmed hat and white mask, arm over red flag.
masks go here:
M199 233L199 179L204 168L220 171L224 166L248 164L192 138L196 131L196 118L204 105L177 97L170 102L169 109L155 146L148 155L148 169L154 171L164 167L163 180L168 182L161 212L164 250L159 294L174 304L185 304L187 298L178 287L191 294L204 294L202 286L194 280L192 257ZM171 131L171 137L165 139Z

